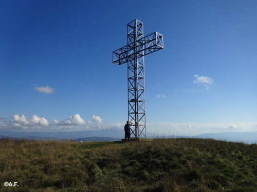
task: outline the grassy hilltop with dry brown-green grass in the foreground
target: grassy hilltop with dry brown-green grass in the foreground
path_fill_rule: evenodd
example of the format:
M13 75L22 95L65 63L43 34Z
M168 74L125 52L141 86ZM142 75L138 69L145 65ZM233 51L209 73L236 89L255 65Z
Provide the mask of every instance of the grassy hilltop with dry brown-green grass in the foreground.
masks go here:
M3 139L0 191L257 191L257 145Z

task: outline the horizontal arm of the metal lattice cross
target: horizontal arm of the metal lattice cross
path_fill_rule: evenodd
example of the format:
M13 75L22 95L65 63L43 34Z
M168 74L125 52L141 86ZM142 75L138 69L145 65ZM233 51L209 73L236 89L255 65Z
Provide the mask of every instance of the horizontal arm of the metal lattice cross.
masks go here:
M163 49L163 36L154 32L113 52L113 63L121 65L135 57L148 55Z

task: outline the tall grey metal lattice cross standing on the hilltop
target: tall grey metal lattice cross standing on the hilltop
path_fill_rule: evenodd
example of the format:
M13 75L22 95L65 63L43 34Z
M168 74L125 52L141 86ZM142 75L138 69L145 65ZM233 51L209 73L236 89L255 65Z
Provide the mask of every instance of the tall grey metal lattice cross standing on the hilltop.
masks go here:
M128 121L135 138L146 137L144 55L163 49L163 36L154 32L143 36L143 23L127 24L127 45L113 52L113 63L127 63Z

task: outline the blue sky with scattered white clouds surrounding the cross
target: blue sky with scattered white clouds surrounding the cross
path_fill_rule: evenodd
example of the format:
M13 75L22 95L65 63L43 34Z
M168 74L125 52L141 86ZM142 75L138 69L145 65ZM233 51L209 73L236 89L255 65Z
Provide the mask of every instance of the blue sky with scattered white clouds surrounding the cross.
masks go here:
M145 56L148 130L257 131L256 1L1 1L1 129L122 129L112 52L135 18L164 37Z

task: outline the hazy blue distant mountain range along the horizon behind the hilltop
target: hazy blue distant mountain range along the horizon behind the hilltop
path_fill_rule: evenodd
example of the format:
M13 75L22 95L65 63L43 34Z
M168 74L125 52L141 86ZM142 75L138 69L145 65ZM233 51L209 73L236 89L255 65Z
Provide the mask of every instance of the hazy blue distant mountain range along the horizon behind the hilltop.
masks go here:
M153 133L148 133L149 138L156 138ZM123 130L104 129L75 132L12 132L0 131L0 138L29 139L29 140L70 140L76 141L117 141L124 137ZM257 143L257 132L225 132L206 133L197 136L164 136L159 138L210 138L215 140Z

